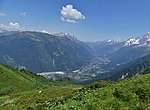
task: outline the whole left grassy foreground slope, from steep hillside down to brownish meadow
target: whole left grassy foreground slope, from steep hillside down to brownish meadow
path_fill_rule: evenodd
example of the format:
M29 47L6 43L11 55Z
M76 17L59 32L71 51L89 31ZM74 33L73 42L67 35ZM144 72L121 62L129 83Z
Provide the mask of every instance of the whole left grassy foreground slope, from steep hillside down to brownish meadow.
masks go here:
M71 94L69 81L50 81L28 71L0 65L0 110L35 108L47 100Z

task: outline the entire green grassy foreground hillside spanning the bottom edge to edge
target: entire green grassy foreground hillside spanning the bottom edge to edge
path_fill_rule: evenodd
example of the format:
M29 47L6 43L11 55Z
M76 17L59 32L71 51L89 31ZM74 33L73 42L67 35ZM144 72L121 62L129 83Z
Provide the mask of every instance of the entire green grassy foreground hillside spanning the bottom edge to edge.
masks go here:
M1 68L4 73L13 72L11 69L7 69L3 66L1 66ZM22 75L24 75L24 73L22 73ZM32 74L29 75L32 76ZM20 75L17 74L15 76L19 77ZM26 84L26 86L32 84L29 85L31 90L27 91L27 87L24 87L22 89L23 92L16 91L12 92L10 95L0 97L1 110L150 109L150 74L140 75L114 83L105 81L95 82L83 87L82 89L80 89L81 86L75 86L63 82L45 83L43 82L45 80L41 79L41 77L39 78L35 75L32 77L36 77L36 81L31 77L25 79L22 77L20 79L19 77L19 81L22 81L21 84ZM29 81L30 78L32 79L32 83ZM2 79L3 81L6 81L7 84L10 84L7 81L8 79ZM2 79L0 79L0 82ZM27 79L28 81L26 81ZM17 82L18 81L12 81L11 83L17 85ZM33 82L38 83L34 84ZM40 84L46 86L43 87ZM4 87L4 85L1 84L1 87ZM15 87L22 88L20 86Z

